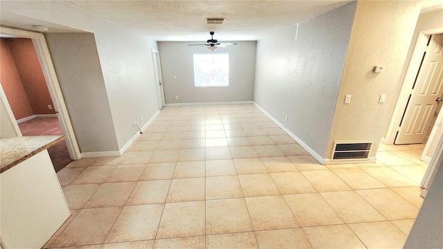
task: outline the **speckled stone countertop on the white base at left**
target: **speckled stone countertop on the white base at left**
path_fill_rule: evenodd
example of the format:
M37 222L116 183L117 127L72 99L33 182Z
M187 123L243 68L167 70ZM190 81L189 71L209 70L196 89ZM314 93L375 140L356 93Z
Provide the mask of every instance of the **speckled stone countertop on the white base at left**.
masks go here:
M64 140L58 136L21 136L0 138L0 173Z

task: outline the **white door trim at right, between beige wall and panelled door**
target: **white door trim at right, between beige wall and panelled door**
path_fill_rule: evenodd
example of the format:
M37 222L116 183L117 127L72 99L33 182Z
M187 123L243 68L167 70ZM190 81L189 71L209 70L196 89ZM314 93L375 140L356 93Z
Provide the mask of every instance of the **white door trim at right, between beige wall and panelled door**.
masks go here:
M413 87L415 76L417 76L417 70L420 66L420 63L422 62L424 49L428 42L428 38L426 38L426 35L435 35L439 33L443 33L443 28L423 30L418 35L417 43L415 44L413 55L410 58L408 70L406 71L406 76L404 77L404 82L401 86L401 91L397 100L397 104L395 104L394 113L392 114L388 131L386 132L386 136L381 139L382 142L386 145L392 145L394 143L395 136L397 135L398 125L401 118L403 117L404 109L406 108L406 104L408 103L408 96Z

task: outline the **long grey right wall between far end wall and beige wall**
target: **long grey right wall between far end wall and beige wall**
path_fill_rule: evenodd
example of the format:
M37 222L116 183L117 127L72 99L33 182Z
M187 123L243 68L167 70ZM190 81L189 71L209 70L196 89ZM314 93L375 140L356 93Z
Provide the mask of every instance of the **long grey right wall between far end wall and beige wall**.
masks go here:
M257 43L255 102L325 156L356 2ZM296 35L297 34L297 35ZM284 121L288 116L287 122Z

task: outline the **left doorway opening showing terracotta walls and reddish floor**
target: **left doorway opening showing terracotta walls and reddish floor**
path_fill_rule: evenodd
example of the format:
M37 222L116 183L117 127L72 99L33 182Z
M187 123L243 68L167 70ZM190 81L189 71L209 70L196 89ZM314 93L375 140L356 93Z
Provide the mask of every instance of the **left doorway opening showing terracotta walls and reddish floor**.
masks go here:
M1 45L1 82L22 136L63 135L33 41L5 37ZM48 148L55 172L72 159L66 141Z

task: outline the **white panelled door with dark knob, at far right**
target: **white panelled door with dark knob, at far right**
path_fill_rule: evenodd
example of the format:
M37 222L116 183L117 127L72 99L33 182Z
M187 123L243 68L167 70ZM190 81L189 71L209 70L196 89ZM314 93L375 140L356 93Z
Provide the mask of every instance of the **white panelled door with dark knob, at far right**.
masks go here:
M431 35L400 122L395 145L422 143L443 93L443 35Z

